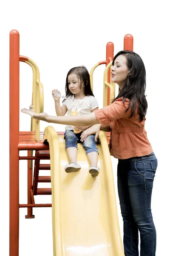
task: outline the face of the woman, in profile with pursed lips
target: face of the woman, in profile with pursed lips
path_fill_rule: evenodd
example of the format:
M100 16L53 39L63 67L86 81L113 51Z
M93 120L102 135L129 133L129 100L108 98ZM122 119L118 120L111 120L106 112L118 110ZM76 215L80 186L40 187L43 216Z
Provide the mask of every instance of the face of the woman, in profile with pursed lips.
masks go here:
M111 81L118 84L119 88L122 89L129 71L126 64L126 57L119 55L114 61L114 65L111 67Z

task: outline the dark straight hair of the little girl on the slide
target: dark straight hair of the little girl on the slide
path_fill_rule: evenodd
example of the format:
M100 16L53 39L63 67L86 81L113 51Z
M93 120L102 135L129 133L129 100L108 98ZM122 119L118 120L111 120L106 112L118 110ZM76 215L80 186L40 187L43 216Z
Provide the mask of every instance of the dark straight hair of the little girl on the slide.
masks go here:
M66 98L68 98L71 95L74 95L71 93L71 91L68 88L68 76L71 73L75 73L77 77L80 79L80 84L79 87L82 88L82 86L85 86L85 96L94 96L92 90L91 90L91 83L90 83L90 75L88 73L88 70L86 67L73 67L71 70L68 71L67 77L66 77L66 82L65 82L65 93L66 93ZM64 102L65 99L62 101Z

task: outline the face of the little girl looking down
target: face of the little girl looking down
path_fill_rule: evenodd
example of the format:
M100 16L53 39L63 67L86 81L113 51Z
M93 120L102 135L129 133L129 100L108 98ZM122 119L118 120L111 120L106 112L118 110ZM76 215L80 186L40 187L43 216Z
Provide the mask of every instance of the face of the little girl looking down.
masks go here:
M80 84L81 84L81 81L75 73L71 73L68 76L68 88L71 91L71 93L82 95L85 91L85 87L82 84L82 87L80 88L79 87Z

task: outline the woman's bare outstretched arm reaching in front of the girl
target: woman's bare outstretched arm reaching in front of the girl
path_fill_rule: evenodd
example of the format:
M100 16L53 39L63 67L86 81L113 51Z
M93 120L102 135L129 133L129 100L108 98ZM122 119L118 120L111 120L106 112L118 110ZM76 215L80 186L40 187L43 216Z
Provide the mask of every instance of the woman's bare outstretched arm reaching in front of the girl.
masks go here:
M46 113L35 113L26 108L23 108L21 112L26 113L35 119L60 125L88 126L100 123L96 118L94 112L90 113L87 116L49 116Z

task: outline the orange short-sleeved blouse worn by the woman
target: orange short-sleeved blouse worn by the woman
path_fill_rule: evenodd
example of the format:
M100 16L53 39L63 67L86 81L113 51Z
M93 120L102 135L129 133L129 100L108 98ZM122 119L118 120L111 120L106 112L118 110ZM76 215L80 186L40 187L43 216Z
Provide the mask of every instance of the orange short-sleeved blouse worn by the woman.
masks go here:
M96 110L95 116L102 126L111 126L110 153L118 159L127 159L130 157L141 157L153 152L150 142L147 139L147 133L144 129L144 122L140 122L140 116L137 113L129 118L131 108L125 112L129 106L129 100L125 100L125 106L122 98L116 99L111 105Z

